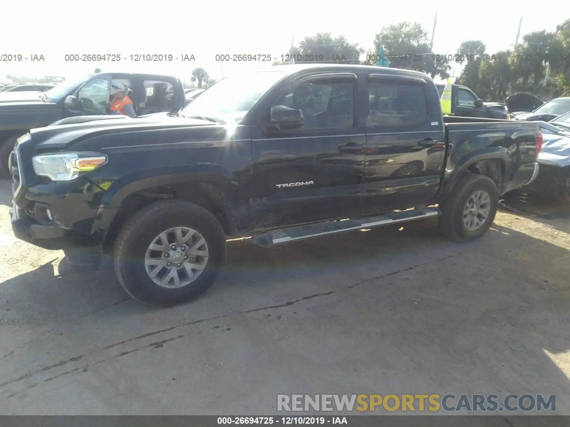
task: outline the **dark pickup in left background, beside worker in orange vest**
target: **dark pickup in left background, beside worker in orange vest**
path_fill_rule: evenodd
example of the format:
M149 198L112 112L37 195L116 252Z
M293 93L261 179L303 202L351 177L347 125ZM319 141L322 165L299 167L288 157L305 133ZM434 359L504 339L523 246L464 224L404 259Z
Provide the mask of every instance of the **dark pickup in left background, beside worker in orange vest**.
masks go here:
M129 87L128 96L138 115L178 110L186 104L184 87L176 77L100 72L99 69L64 80L42 94L31 92L28 95L31 99L0 99L0 176L10 178L10 152L16 139L30 129L47 126L60 119L109 114L109 90L115 81Z

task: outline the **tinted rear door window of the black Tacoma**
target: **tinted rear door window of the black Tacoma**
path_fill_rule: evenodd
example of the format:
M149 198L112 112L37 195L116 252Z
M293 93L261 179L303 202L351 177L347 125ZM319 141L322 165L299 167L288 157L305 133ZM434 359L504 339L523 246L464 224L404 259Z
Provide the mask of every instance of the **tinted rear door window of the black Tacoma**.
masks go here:
M427 100L423 85L369 81L368 97L368 128L413 125L427 120Z

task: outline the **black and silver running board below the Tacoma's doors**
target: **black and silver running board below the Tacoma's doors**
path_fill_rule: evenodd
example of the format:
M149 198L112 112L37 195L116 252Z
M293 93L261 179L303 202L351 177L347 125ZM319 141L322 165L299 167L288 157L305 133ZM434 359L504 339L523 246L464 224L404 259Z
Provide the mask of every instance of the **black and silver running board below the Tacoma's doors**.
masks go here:
M441 211L439 208L435 207L400 212L392 211L385 213L382 216L373 216L355 220L328 221L326 223L272 230L270 232L252 236L251 242L264 248L270 248L273 245L308 239L310 237L319 237L333 233L341 233L343 231L358 230L361 228L381 227L382 225L403 223L405 221L413 221L438 215L441 215Z

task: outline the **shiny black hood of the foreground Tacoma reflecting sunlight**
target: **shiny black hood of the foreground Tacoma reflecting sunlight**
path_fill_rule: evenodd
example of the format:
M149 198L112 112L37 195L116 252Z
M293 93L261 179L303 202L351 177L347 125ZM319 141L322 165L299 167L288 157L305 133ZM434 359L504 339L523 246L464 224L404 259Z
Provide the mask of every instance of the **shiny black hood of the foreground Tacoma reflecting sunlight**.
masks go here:
M154 116L154 114L152 115ZM107 118L79 124L47 126L32 129L31 141L28 142L38 149L65 149L76 142L91 136L117 134L141 130L161 130L176 128L199 128L219 126L210 121L184 117L125 117L123 119Z

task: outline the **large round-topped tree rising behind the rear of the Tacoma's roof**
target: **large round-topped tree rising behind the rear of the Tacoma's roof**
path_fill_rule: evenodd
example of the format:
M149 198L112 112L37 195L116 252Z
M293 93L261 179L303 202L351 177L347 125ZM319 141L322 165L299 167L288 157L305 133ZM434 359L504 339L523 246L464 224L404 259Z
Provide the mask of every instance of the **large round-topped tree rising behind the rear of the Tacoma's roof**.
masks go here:
M427 31L417 22L399 22L383 27L374 39L375 52L381 44L386 47L385 54L391 61L389 67L422 71L432 78L449 77L449 60L433 54Z

